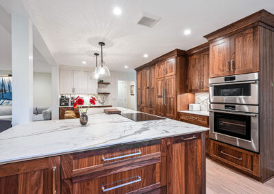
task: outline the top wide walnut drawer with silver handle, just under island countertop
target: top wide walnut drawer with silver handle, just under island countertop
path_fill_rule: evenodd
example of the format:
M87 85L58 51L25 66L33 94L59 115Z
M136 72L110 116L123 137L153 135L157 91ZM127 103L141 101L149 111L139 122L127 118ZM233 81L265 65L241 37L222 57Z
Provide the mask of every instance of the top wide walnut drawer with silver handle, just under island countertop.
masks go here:
M160 140L62 156L62 179L160 158Z

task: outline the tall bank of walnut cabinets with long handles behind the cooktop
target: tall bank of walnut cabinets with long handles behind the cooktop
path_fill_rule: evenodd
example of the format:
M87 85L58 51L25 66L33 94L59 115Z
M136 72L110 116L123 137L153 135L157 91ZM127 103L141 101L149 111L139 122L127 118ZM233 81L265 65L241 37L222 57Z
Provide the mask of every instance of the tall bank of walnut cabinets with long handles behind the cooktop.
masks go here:
M175 49L136 71L138 111L177 119L177 95L186 92L186 51Z

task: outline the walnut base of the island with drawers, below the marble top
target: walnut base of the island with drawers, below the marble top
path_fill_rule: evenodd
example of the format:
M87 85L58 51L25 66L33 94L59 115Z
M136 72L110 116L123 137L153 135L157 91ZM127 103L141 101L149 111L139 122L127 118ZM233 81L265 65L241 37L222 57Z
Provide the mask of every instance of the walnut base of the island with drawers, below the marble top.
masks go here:
M0 193L206 193L204 146L201 132L0 165Z

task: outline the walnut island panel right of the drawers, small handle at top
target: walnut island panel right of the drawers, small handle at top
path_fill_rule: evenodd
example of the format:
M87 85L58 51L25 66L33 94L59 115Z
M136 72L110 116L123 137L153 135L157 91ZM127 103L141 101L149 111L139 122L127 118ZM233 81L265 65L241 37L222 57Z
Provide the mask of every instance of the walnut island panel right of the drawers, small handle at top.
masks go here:
M170 141L167 193L206 193L205 133L174 137Z

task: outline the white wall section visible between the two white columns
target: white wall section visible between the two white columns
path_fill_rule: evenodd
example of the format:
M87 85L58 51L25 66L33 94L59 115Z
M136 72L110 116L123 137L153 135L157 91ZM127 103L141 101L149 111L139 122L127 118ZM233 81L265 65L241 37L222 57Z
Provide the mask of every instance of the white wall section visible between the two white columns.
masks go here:
M51 74L34 72L34 107L51 105Z

